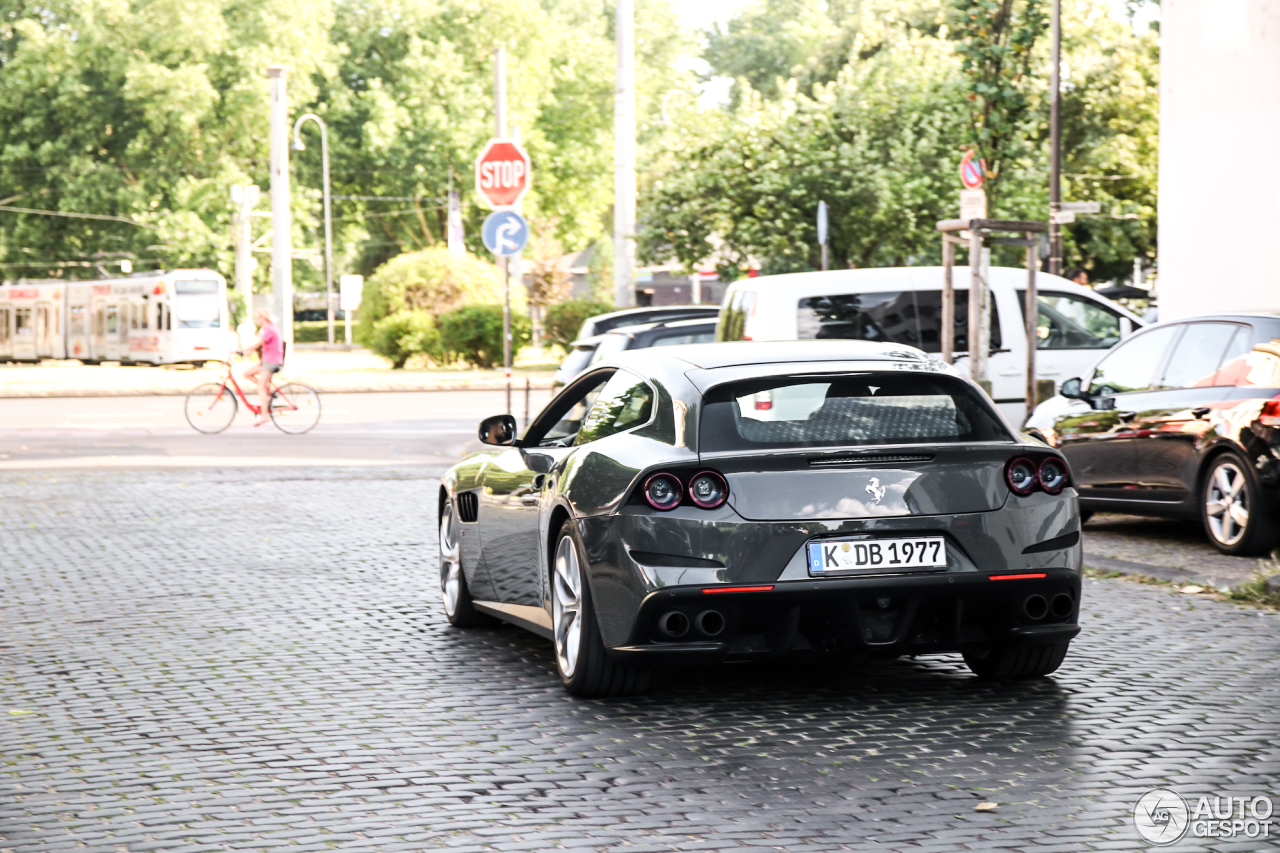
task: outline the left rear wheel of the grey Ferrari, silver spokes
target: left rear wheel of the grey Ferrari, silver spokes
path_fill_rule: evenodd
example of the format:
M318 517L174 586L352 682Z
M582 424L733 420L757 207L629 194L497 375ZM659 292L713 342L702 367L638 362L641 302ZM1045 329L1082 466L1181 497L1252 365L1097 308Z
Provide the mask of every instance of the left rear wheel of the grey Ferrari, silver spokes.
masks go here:
M644 693L649 671L614 663L605 653L582 555L573 524L566 521L556 538L550 566L556 671L564 689L576 697Z

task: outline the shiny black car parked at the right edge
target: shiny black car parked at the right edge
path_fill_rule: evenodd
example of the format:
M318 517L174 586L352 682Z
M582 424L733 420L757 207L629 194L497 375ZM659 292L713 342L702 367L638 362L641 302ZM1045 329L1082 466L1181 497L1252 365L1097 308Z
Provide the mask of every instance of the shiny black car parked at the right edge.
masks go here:
M1219 551L1280 540L1280 316L1148 327L1027 429L1071 465L1080 510L1199 519Z

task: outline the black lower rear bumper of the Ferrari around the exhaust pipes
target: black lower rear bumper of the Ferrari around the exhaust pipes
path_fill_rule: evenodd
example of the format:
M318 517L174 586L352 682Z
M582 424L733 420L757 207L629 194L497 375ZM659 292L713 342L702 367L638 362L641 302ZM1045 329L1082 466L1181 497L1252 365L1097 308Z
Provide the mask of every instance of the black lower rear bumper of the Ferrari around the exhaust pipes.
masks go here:
M1010 580L992 580L992 574L786 580L768 590L740 593L662 589L641 603L631 642L612 647L609 656L643 666L787 656L897 657L1060 643L1080 633L1078 573L1044 570L1033 573L1043 578ZM1046 612L1037 617L1041 602ZM698 628L708 611L723 621L716 635ZM682 613L689 625L680 637L662 629L663 616L672 612ZM669 621L684 624L680 617Z

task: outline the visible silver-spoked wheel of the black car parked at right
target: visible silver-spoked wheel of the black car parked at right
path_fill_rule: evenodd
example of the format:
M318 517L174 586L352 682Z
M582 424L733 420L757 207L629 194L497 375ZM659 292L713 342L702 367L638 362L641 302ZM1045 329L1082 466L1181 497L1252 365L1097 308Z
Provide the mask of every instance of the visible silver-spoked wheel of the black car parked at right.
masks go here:
M1235 453L1210 464L1201 484L1204 535L1222 553L1256 556L1276 547L1277 529L1268 524L1266 503L1253 467Z

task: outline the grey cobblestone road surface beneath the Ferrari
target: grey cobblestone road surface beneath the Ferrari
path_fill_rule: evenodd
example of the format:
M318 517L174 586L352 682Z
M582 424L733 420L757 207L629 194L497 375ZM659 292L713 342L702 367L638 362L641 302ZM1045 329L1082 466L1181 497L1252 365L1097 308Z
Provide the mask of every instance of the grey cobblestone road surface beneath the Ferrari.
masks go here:
M434 488L0 474L0 850L1134 850L1151 786L1280 795L1274 613L1091 580L1033 684L936 657L575 701L544 640L440 617Z

